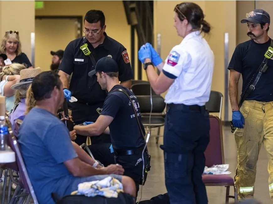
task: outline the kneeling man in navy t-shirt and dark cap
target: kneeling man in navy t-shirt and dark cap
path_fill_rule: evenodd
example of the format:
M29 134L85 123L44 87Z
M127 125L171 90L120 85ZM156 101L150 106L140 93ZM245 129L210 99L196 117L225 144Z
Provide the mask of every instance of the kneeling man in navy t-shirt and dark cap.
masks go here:
M140 122L142 133L138 127L136 117L140 118L140 107L135 94L119 83L118 64L110 57L98 60L96 67L88 75L97 75L97 81L102 89L108 90L102 112L95 123L90 125L75 125L77 134L97 136L103 132L110 134L115 162L123 166L124 175L130 176L136 183L136 192L142 178L143 160L147 163L147 151L142 152L145 146L145 129ZM94 77L94 76L93 76ZM126 94L114 89L123 89L130 96L137 115ZM109 126L109 128L108 128Z

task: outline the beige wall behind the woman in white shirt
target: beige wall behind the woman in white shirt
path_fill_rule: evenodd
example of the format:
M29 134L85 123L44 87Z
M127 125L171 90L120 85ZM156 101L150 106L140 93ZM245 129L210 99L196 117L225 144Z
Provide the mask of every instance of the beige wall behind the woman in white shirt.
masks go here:
M161 33L161 57L165 59L171 48L179 44L182 38L177 36L173 27L174 7L181 1L155 1L155 39ZM225 96L224 33L229 33L229 59L236 46L236 1L191 1L197 3L205 13L205 19L211 24L211 34L206 36L215 55L215 67L212 90L220 91ZM215 7L217 9L215 9ZM164 15L162 15L164 13ZM229 103L228 103L229 104ZM224 107L224 104L223 104ZM231 111L230 111L231 112ZM217 114L216 114L217 115ZM222 118L224 117L224 109ZM229 119L231 114L229 115Z

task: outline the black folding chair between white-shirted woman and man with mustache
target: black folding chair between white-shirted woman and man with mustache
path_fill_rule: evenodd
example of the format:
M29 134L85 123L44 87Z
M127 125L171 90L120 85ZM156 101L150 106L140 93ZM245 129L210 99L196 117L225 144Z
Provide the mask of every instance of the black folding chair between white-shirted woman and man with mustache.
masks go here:
M219 113L221 120L222 116L222 105L223 105L223 94L218 91L211 91L210 99L206 102L206 109L210 113Z

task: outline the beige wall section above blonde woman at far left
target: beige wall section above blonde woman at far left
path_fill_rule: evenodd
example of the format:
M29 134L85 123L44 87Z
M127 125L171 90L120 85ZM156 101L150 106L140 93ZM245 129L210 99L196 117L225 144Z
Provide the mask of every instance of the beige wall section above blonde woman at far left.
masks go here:
M35 30L34 1L0 1L1 38L8 30L19 31L22 51L31 61L30 33Z

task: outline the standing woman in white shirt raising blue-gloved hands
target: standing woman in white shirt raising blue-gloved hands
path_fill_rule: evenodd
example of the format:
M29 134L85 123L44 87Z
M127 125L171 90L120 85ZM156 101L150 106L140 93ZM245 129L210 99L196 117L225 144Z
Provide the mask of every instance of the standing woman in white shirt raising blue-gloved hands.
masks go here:
M204 151L209 143L209 100L214 55L201 33L209 33L202 9L185 2L174 8L174 27L182 42L162 62L146 43L139 50L151 87L157 94L167 91L164 126L165 184L171 204L207 204L202 182ZM158 76L154 66L161 71Z

